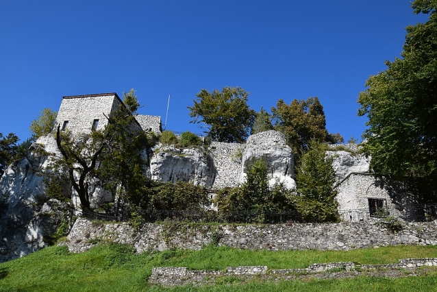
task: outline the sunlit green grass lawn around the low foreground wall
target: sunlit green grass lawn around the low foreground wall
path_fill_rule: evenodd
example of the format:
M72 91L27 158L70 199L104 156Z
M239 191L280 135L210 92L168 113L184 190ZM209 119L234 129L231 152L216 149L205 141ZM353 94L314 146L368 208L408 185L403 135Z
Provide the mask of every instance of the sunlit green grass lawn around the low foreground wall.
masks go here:
M127 245L101 245L71 254L66 247L47 247L0 264L0 291L437 291L437 273L398 279L361 277L342 280L295 280L260 283L226 282L205 287L151 287L153 267L225 269L266 265L270 269L303 268L312 263L352 261L359 264L398 263L400 258L437 257L436 246L401 245L377 249L272 252L205 247L200 251L170 250L136 254Z

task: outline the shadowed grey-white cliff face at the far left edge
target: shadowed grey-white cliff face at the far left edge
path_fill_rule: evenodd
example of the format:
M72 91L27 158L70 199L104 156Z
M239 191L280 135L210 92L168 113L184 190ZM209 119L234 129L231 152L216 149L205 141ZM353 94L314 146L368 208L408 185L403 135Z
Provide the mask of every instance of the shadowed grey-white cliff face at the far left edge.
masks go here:
M51 137L30 147L27 157L6 169L0 178L0 262L35 252L47 245L67 209L56 199L47 201L42 178L47 152L57 151Z

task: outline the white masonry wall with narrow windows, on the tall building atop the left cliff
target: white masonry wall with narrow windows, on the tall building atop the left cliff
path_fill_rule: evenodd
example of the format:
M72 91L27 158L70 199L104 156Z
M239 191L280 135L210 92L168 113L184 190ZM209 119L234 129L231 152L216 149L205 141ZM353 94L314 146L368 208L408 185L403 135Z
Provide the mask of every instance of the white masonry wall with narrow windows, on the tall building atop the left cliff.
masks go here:
M121 102L113 93L103 95L79 95L64 97L56 117L56 127L68 121L67 129L73 134L91 132L92 123L99 120L97 130L101 130L108 124L108 116L120 106Z

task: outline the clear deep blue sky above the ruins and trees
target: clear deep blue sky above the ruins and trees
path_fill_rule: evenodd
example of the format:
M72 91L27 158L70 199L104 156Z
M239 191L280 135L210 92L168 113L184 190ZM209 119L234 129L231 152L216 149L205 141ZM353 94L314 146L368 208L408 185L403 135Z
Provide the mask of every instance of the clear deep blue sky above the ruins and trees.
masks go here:
M134 88L140 114L201 133L187 106L240 86L249 106L319 97L327 130L360 138L358 94L400 57L408 0L0 0L0 132L25 140L62 96Z

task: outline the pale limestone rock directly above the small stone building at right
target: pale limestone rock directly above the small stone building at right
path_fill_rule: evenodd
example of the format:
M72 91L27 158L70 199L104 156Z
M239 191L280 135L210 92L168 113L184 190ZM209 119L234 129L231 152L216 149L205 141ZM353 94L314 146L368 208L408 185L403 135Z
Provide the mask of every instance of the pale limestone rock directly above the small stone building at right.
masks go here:
M327 151L326 156L334 156L332 167L336 171L337 182L344 180L350 173L369 172L371 158L362 154L353 154L348 151Z

